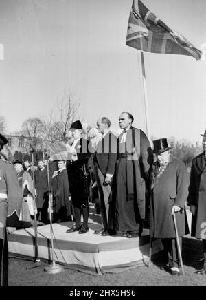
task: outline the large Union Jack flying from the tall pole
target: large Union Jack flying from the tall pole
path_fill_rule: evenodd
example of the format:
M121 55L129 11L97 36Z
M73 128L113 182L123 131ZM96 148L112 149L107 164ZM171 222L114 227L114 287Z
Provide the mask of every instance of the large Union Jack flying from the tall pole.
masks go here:
M163 54L181 54L201 59L202 52L184 36L170 29L140 0L134 0L128 21L126 45Z

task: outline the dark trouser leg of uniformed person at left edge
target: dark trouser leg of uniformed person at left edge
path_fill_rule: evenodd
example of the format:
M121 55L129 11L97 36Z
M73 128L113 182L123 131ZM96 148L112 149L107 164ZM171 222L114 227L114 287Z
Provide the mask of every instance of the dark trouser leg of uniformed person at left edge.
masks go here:
M8 286L8 242L5 238L0 239L0 286Z

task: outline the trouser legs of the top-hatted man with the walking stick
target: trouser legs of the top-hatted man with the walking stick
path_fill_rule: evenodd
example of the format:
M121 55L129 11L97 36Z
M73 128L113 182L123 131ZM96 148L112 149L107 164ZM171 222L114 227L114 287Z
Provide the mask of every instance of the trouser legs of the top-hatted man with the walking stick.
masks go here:
M179 268L179 252L176 239L161 239L165 251L168 253L168 264L170 268ZM179 238L180 247L182 248L182 238Z

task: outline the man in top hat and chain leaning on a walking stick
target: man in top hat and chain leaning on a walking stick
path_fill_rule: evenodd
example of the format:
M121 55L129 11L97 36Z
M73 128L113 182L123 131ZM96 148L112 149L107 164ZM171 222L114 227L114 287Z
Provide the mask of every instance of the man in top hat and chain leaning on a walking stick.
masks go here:
M168 253L168 264L161 268L172 275L180 275L172 214L176 216L179 237L189 233L185 213L189 174L181 160L172 158L166 138L154 140L153 144L157 161L150 172L150 237L161 239Z

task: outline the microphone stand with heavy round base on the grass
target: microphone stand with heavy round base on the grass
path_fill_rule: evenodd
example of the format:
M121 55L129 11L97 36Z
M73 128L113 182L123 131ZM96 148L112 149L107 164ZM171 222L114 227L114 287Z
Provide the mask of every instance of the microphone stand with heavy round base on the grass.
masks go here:
M54 242L53 242L53 228L52 228L52 195L50 192L50 182L49 182L49 160L47 161L47 180L48 180L48 190L49 190L49 221L50 221L51 246L52 246L52 264L46 266L44 271L47 272L47 274L57 274L62 272L64 268L59 264L56 264L54 260Z

